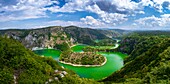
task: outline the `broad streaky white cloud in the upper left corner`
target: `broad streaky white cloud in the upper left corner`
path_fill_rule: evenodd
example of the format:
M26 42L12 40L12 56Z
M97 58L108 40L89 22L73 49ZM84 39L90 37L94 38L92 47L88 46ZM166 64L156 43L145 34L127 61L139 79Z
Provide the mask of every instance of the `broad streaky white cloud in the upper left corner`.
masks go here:
M44 7L53 3L58 4L57 1L51 0L18 0L15 5L0 8L0 11L5 11L3 15L0 15L0 20L2 22L47 17L47 9Z

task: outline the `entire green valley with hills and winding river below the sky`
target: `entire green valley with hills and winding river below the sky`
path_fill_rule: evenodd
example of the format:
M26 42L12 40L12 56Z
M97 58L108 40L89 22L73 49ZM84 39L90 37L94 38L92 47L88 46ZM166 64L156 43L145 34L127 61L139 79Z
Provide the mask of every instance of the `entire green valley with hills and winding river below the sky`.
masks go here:
M2 30L0 76L8 77L1 82L169 83L170 32L123 32L74 26Z

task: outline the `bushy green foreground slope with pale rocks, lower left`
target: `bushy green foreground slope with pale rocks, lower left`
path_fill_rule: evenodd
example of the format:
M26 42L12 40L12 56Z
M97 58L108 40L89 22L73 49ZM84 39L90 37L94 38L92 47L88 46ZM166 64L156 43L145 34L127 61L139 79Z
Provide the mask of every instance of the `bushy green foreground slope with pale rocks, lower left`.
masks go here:
M18 41L0 37L0 83L2 84L95 84L61 68L52 58L40 57Z

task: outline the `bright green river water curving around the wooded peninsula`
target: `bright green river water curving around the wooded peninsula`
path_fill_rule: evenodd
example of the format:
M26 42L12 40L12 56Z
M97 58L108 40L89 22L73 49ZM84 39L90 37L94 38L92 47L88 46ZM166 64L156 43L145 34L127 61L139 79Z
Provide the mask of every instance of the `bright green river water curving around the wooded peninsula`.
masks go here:
M82 48L85 46L86 45L76 45L72 47L72 50L74 52L83 52ZM55 60L58 60L60 53L61 53L59 50L54 50L54 49L36 50L34 52L39 55L44 55L47 57L52 56ZM74 71L80 77L101 80L105 77L108 77L113 72L119 70L121 67L123 67L123 59L127 56L120 52L110 52L110 53L99 52L99 54L102 54L103 56L106 56L107 58L106 64L100 67L76 67L76 66L71 66L71 65L62 64L62 63L59 63L59 64L60 66L63 66L67 69Z

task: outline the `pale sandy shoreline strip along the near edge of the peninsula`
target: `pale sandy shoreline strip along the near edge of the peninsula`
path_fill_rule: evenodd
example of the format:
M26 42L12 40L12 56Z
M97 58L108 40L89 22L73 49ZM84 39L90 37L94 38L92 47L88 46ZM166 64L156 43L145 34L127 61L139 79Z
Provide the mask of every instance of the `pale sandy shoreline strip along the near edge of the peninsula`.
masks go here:
M101 65L79 65L79 64L66 63L64 61L59 61L59 62L63 64L71 65L71 66L77 66L77 67L99 67L99 66L103 66L106 64L107 58L105 56L104 56L104 59L105 61Z

